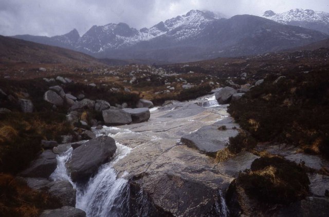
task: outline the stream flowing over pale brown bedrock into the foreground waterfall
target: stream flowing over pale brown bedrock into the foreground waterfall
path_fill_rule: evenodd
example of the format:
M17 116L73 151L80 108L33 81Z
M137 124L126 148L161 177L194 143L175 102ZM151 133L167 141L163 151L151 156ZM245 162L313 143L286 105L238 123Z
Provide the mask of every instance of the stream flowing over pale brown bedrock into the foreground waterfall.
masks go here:
M117 150L85 185L67 174L72 148L57 157L51 179L68 180L77 189L76 207L90 217L198 216L204 209L209 216L228 216L222 188L232 178L215 170L211 157L180 144L182 135L227 117L226 107L206 96L150 111L145 123L94 129L113 137Z

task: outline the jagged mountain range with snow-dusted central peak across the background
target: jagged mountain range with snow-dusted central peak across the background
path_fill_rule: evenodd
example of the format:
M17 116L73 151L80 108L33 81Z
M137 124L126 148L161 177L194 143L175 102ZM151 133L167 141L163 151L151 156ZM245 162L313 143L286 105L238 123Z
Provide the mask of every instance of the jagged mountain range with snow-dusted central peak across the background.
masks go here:
M273 15L274 14L274 15ZM286 25L264 17L218 17L212 12L187 14L137 30L125 23L93 26L82 36L76 29L46 37L16 35L26 41L81 51L98 58L145 59L154 62L190 62L221 56L275 52L324 40L327 34Z

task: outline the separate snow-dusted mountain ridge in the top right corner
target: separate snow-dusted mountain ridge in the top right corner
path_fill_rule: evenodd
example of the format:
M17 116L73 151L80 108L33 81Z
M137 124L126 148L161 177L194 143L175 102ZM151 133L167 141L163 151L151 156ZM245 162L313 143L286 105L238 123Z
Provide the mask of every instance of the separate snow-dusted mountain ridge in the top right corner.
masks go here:
M284 13L275 13L269 10L265 11L262 17L281 24L300 26L329 34L329 13L327 12L295 9Z

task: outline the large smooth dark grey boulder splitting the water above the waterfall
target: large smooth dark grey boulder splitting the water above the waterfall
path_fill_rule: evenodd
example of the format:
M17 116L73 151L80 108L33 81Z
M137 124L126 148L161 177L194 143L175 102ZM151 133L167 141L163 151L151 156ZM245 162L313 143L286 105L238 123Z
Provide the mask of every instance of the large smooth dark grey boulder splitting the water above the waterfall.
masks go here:
M99 136L74 149L67 165L72 181L88 179L111 159L116 149L114 139L109 136Z

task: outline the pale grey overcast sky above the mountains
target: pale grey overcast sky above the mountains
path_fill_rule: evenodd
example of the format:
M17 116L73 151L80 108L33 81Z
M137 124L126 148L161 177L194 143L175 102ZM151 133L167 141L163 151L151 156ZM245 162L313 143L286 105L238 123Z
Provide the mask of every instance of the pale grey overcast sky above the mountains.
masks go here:
M192 9L261 15L266 10L329 12L329 0L0 0L0 34L61 35L76 28L127 23L140 29Z

